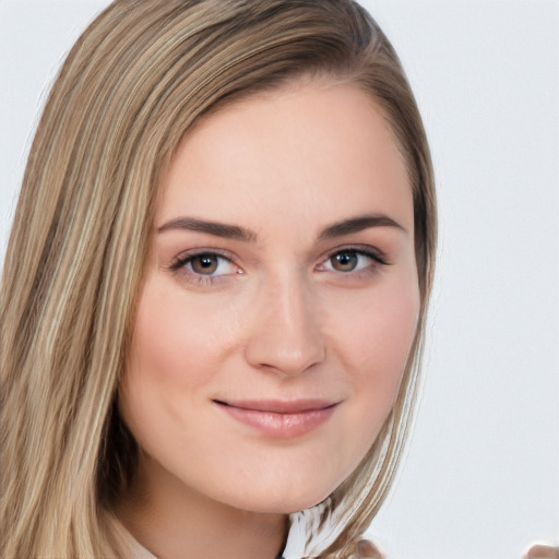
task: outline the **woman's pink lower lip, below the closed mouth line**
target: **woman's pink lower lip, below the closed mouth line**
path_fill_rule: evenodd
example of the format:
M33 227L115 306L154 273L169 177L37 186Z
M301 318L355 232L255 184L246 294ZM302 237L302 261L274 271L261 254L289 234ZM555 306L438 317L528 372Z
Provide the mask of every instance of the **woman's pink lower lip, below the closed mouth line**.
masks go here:
M321 409L278 414L216 404L240 424L272 439L302 437L326 423L337 407L337 405L332 405Z

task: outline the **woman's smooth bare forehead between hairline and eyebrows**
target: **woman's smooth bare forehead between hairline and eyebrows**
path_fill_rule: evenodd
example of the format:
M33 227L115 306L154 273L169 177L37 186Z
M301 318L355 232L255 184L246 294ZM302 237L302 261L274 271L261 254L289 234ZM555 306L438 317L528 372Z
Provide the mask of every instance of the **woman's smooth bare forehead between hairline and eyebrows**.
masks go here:
M412 228L412 189L372 97L310 82L253 95L204 118L179 145L156 213L266 228L390 213ZM407 227L406 227L407 228Z

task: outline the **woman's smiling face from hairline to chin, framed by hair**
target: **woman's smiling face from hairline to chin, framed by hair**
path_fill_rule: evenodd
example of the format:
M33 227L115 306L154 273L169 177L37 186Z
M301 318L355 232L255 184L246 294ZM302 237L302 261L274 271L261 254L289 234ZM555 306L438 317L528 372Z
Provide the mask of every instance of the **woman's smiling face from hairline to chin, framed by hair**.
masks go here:
M120 392L151 486L321 501L390 413L418 308L411 185L370 96L307 83L205 118L163 185Z

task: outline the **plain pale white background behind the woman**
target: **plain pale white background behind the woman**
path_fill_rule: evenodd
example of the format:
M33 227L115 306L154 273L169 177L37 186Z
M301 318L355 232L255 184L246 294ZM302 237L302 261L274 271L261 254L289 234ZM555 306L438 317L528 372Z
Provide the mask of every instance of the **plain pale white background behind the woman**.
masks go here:
M441 247L427 377L370 528L389 559L559 543L559 2L362 2L433 152ZM0 0L0 259L41 105L107 0Z

